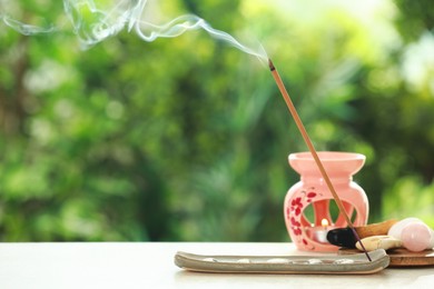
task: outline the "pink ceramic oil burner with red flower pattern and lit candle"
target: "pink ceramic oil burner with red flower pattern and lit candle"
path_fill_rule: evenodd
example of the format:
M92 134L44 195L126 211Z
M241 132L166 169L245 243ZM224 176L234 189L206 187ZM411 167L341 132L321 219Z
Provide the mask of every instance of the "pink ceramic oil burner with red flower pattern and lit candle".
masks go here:
M365 163L365 156L319 151L318 157L353 225L366 225L369 211L367 197L353 181L353 175ZM292 153L288 160L290 167L300 175L300 181L288 190L284 206L285 223L292 241L300 250L336 251L338 247L327 241L327 231L347 227L345 217L338 212L312 153Z

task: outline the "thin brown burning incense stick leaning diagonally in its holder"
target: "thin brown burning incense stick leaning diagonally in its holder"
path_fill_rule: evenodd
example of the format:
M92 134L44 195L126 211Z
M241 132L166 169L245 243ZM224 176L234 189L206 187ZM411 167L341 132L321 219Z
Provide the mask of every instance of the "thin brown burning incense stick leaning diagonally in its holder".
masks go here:
M355 228L353 226L353 222L351 221L348 215L345 211L344 205L342 203L342 201L339 199L339 196L336 193L336 190L333 187L333 183L332 183L331 179L328 178L327 171L325 170L325 168L323 166L323 162L320 161L320 159L318 157L318 153L316 152L315 147L312 143L310 138L307 134L307 131L306 131L305 127L303 126L302 119L299 118L299 116L297 113L297 110L295 109L294 103L290 100L290 97L289 97L288 92L286 91L284 82L282 81L282 78L280 78L279 73L277 72L276 68L274 67L274 64L273 64L270 59L268 59L268 66L269 66L269 70L273 73L273 78L276 81L276 84L279 88L280 93L282 93L282 96L285 99L286 106L288 107L289 112L293 116L293 118L295 120L295 123L297 124L297 128L298 128L299 132L302 133L302 137L305 140L305 142L306 142L306 144L307 144L307 147L308 147L308 149L309 149L309 151L312 153L312 157L314 158L316 165L318 166L320 175L323 176L323 179L325 180L328 189L331 190L331 192L333 195L333 198L335 199L336 205L339 208L341 213L345 217L345 220L346 220L348 227L352 229L356 240L361 243L363 250L365 251L365 255L366 255L367 259L369 261L372 261L369 255L367 253L365 247L363 246L363 243L361 241L361 238L358 237L358 235L357 235L357 232L356 232L356 230L355 230Z

